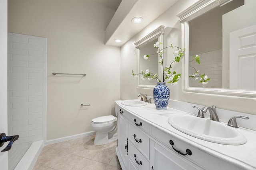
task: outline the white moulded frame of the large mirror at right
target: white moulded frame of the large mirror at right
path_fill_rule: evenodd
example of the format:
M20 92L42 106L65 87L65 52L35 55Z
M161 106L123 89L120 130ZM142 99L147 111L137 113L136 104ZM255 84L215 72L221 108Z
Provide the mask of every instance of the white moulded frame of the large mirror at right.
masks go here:
M222 96L234 96L243 98L256 98L256 90L222 89L222 88L198 88L189 86L189 21L212 10L213 8L225 4L229 0L199 0L194 5L177 14L182 27L182 45L186 48L183 57L183 90L184 93L200 93Z

